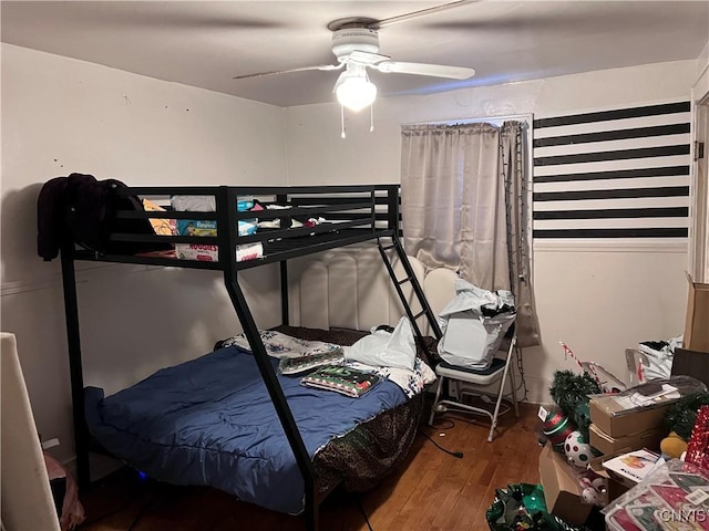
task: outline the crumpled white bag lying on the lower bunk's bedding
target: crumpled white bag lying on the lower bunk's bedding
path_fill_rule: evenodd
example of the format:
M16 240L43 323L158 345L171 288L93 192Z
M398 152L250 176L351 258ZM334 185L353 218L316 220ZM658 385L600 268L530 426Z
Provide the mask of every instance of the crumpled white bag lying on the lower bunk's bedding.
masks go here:
M401 317L393 332L373 330L352 346L346 346L345 358L379 367L413 371L417 345L411 323L407 317Z

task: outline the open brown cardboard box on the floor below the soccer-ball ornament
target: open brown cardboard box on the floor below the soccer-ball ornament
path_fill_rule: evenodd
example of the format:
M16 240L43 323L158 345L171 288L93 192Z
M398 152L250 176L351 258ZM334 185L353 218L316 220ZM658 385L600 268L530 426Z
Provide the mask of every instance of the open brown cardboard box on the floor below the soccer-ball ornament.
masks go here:
M578 478L549 444L540 454L540 478L549 513L574 525L582 525L588 519L593 506L582 501Z

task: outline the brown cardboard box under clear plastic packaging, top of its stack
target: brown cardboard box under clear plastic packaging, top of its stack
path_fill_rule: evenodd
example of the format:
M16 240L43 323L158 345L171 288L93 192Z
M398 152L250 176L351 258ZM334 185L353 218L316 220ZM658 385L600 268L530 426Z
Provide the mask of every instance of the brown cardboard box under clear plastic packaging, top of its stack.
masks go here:
M593 397L588 402L590 421L614 438L662 427L665 414L670 405L671 403L624 413L613 395Z

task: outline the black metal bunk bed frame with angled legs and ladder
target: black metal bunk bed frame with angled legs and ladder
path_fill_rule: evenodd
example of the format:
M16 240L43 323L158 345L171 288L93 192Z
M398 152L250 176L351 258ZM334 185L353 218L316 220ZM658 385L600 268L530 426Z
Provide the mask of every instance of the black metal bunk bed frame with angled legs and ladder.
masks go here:
M148 264L178 267L187 269L216 270L224 273L224 282L233 306L242 324L244 335L248 340L258 371L275 406L278 419L284 428L288 444L292 449L298 468L305 482L305 518L308 530L318 529L318 507L325 496L318 489L318 478L309 457L298 426L284 392L278 383L273 365L261 341L248 303L238 281L238 271L266 263L279 262L282 324L288 325L288 287L286 261L297 257L311 254L328 249L349 246L364 241L376 241L383 263L393 282L393 287L402 301L407 315L412 323L415 339L424 344L419 317L428 320L436 340L441 339L441 330L428 304L421 285L409 263L399 240L399 186L398 185L361 185L361 186L326 186L326 187L127 187L115 189L115 194L133 197L172 196L213 196L216 210L210 212L145 211L120 209L113 214L114 219L203 219L216 220L217 235L204 236L157 236L151 233L111 232L109 240L113 242L133 242L150 244L194 243L214 244L218 247L217 261L179 260L160 253L111 254L97 253L80 249L74 241L62 242L61 264L66 312L66 331L70 357L70 374L73 399L74 435L76 445L78 479L81 487L90 483L89 454L92 450L91 436L84 417L84 382L79 329L79 310L75 284L74 261L119 262L131 264ZM242 236L238 223L254 218L251 211L239 211L237 204L244 197L269 197L274 204L288 207L287 216L321 217L328 221L312 227L284 228L268 231L256 231ZM284 217L284 210L261 210L257 212L259 220ZM224 230L226 227L227 230ZM259 242L264 247L263 256L251 260L236 261L238 246ZM226 252L224 252L226 250ZM403 266L405 278L398 279L390 260L393 250ZM422 311L413 314L403 293L402 285L411 283L414 295Z

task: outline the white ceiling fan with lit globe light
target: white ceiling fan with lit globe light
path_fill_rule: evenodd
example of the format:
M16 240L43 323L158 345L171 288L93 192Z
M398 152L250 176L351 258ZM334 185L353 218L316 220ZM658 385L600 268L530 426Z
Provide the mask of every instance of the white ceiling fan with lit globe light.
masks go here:
M273 72L260 72L256 74L237 75L234 79L244 80L291 72L312 70L338 71L345 69L337 79L332 92L336 93L338 101L343 107L356 112L371 105L377 98L377 86L369 80L367 69L373 69L384 73L466 80L475 74L473 69L442 64L399 62L392 61L389 55L380 54L379 30L386 25L420 18L473 1L477 0L460 0L384 20L362 17L338 19L328 24L328 29L332 32L331 51L337 59L336 64L319 64Z

